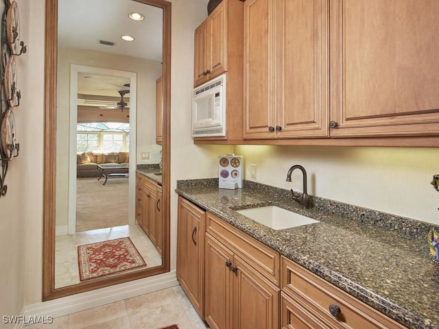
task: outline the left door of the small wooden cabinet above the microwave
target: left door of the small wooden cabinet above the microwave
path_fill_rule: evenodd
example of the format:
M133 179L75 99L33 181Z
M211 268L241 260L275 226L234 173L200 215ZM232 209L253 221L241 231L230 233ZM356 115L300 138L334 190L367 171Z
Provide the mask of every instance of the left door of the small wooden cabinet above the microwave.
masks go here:
M193 85L199 86L208 80L206 70L209 66L210 54L209 19L195 29L194 40L194 75Z

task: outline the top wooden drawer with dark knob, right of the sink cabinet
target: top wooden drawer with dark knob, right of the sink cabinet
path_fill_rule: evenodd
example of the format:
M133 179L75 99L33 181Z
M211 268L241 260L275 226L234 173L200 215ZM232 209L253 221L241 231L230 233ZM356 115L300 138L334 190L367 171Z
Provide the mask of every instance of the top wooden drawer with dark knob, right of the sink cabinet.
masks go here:
M405 328L304 267L285 257L281 261L284 293L327 328ZM337 317L329 312L330 305L340 307Z

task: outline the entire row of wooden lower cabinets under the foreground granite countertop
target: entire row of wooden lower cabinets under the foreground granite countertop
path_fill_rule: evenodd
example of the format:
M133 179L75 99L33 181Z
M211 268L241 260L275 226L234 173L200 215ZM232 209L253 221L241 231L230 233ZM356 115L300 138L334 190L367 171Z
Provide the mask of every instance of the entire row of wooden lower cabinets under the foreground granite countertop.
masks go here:
M183 197L177 230L177 278L212 329L405 328Z

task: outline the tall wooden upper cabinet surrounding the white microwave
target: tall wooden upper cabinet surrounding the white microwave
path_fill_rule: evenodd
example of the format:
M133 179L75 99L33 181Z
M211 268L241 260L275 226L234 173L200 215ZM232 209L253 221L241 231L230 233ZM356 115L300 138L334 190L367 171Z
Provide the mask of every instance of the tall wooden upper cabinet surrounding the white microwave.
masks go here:
M194 86L226 73L226 136L195 137L195 143L242 142L243 15L241 0L222 0L195 30Z

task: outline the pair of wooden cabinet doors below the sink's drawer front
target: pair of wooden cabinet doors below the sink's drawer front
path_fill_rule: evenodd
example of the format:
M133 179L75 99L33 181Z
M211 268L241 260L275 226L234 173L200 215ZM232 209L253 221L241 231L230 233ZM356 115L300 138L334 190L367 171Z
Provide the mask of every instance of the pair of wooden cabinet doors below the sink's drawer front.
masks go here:
M205 305L211 328L276 329L281 289L206 234Z

